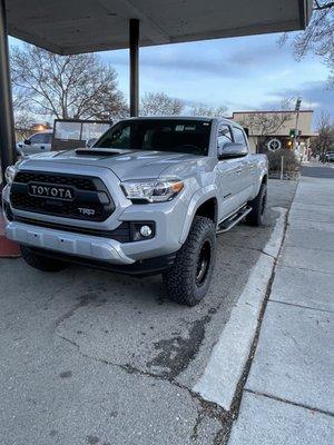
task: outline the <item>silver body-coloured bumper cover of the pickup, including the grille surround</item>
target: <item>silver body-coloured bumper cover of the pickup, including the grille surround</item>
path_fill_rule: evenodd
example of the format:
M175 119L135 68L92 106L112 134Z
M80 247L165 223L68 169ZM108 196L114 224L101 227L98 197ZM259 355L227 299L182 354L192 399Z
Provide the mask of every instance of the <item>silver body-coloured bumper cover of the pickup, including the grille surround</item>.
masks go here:
M48 171L45 168L36 170ZM58 172L58 169L52 168L52 171ZM61 168L62 174L71 171L70 168ZM107 186L115 202L115 211L109 218L105 221L78 221L18 209L10 202L10 187L7 186L2 191L4 208L11 214L6 219L7 237L45 253L59 253L72 259L86 258L126 267L143 260L165 258L181 247L184 240L180 235L190 217L183 198L168 202L134 205L126 199L118 178L110 170L87 167L80 174L101 178ZM155 236L136 241L114 238L114 231L121 231L122 225L137 221L154 224Z

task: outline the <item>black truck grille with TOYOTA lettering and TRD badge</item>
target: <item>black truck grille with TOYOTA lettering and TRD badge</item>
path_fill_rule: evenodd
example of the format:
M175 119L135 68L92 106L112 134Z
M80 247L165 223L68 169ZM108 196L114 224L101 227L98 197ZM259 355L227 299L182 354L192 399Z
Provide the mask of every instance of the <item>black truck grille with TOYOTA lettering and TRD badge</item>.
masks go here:
M31 185L46 189L70 188L73 198L32 196ZM14 209L91 221L104 221L115 210L115 204L101 179L80 175L19 171L11 186L11 205Z

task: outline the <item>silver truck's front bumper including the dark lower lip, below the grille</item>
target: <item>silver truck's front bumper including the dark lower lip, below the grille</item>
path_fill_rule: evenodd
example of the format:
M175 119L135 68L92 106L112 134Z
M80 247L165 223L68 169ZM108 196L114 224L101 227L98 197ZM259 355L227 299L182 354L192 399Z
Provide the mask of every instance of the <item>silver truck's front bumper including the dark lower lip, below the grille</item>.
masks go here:
M17 211L10 206L8 191L7 187L2 194L7 238L41 250L46 256L57 255L63 257L65 260L100 269L151 275L150 271L159 273L159 270L169 267L174 260L173 255L181 246L179 230L175 228L181 227L184 221L185 207L183 205L174 207L174 211L170 211L169 208L167 212L165 209L163 210L160 205L130 206L124 211L122 218L115 221L116 227L112 222L110 224L109 235L101 229L98 230L96 225L92 228L84 226L80 233L76 231L78 227L62 225L58 221L55 227L47 227L48 225L51 226L48 220L29 220L27 217L27 220L22 220L24 218L21 215L18 216ZM166 207L168 207L168 204ZM31 215L28 216L31 217ZM33 215L33 217L37 218L38 216ZM147 217L157 228L154 238L143 241L114 239L114 234L121 227L121 224L143 221ZM55 220L57 219L55 218ZM87 233L88 230L91 233Z

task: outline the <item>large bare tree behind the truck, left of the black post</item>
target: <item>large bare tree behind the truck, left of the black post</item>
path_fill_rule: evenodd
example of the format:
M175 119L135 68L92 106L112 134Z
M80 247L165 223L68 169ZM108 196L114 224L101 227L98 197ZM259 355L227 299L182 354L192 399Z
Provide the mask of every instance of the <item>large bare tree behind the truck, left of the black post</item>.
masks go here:
M94 53L58 56L33 46L11 53L13 96L35 115L102 119L127 115L117 73Z

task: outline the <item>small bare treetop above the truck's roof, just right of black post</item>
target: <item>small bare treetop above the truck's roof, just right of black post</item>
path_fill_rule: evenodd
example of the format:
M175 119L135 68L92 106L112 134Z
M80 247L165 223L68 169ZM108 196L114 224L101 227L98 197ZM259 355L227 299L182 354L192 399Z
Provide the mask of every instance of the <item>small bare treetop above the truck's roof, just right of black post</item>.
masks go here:
M141 116L170 116L180 115L184 103L171 98L165 92L146 92L140 101Z

